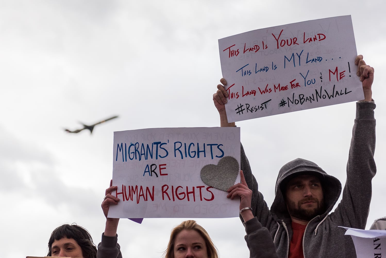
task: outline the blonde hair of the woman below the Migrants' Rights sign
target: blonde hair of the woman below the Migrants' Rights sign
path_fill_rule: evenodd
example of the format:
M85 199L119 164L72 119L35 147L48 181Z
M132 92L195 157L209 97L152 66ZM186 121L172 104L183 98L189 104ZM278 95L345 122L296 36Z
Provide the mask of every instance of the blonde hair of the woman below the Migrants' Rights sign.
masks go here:
M208 258L218 258L218 250L213 244L212 239L210 239L208 232L203 227L198 225L196 221L193 220L183 221L181 222L181 224L172 229L170 233L168 247L164 252L165 258L174 258L174 243L176 241L176 236L184 229L195 230L198 234L200 234L200 236L205 240Z

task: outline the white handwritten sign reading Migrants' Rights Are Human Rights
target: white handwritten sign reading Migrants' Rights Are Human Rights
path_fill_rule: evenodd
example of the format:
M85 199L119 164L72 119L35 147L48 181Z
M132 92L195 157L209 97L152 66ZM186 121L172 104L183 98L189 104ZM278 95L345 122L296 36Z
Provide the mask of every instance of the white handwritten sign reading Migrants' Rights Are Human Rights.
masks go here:
M108 217L237 217L240 128L153 128L114 132L113 185L118 205ZM222 190L221 190L222 189Z

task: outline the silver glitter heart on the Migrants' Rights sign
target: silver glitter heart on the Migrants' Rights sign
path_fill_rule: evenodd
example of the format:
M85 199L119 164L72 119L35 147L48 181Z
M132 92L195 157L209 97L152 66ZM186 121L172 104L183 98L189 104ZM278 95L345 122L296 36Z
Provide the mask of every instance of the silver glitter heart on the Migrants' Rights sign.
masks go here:
M237 175L239 175L239 162L232 156L221 158L217 165L205 165L200 172L204 183L225 192L235 184Z

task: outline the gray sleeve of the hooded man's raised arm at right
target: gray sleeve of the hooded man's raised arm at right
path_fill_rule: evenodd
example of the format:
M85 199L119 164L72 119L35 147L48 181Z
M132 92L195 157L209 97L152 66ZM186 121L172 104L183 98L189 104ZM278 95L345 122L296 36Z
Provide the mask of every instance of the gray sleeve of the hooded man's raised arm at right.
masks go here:
M375 118L373 103L357 103L356 118L347 161L347 180L342 200L334 212L339 226L364 229L372 194L371 180L376 173Z

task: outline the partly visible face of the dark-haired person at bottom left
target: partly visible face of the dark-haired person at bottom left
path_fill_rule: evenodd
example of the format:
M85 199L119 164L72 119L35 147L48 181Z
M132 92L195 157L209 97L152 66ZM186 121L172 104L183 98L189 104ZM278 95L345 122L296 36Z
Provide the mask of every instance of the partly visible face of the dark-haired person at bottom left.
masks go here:
M82 248L73 238L61 238L51 245L51 255L58 257L83 258Z

